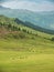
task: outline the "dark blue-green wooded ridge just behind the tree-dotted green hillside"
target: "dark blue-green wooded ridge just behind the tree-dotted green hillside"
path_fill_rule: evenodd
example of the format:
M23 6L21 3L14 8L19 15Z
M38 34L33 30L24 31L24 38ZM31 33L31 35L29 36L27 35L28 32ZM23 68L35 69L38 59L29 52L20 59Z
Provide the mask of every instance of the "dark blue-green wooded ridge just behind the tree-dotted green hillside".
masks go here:
M29 28L32 28L32 29L34 29L34 30L36 30L36 31L39 31L39 32L44 32L44 33L48 33L48 34L54 34L54 30L45 29L45 28L35 25L35 24L33 24L33 23L31 23L31 22L28 22L28 21L23 22L23 21L21 21L21 20L19 20L19 19L14 19L14 21L15 21L18 24L19 24L19 23L20 23L20 24L23 24L23 25L29 27Z

